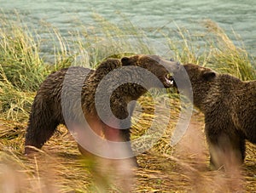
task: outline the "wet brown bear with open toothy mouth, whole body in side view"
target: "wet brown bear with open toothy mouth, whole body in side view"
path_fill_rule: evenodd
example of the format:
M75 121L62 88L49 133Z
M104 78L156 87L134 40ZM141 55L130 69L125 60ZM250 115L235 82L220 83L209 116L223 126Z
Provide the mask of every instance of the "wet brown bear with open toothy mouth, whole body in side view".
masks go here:
M97 135L129 142L133 101L149 88L172 87L170 72L178 66L178 62L156 55L137 54L105 60L96 70L73 66L50 74L32 104L25 153L33 150L30 146L41 148L59 124L71 132L73 128L86 128L84 119ZM96 143L90 137L84 139ZM86 150L82 146L79 143L83 153Z

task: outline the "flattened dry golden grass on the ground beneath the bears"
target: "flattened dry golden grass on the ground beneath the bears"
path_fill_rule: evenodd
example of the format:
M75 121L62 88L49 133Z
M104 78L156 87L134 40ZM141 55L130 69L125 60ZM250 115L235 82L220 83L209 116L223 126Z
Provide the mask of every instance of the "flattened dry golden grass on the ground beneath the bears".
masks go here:
M150 100L144 96L141 101ZM177 99L170 103L178 106ZM153 104L153 103L151 103ZM150 126L153 105L133 125L132 137ZM147 112L148 111L148 112ZM153 148L137 156L131 192L253 192L256 191L256 146L247 144L241 171L224 173L208 169L208 150L203 133L203 116L195 112L183 139L172 147L170 135L178 118L171 109L170 122ZM143 121L144 120L144 121ZM121 186L109 175L97 173L96 165L80 155L77 145L60 126L37 156L23 155L26 123L0 122L0 192L119 192ZM118 173L114 173L118 175ZM101 185L105 187L101 189ZM125 184L126 185L126 184Z

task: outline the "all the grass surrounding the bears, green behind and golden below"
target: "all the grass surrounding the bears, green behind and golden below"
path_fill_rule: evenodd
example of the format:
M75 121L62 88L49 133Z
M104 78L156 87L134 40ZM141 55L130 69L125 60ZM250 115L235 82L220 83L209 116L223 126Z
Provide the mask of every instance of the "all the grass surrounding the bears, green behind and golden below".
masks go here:
M95 14L96 26L73 32L73 42L67 43L61 33L45 25L55 42L52 64L40 56L41 37L33 29L9 20L0 20L0 191L3 192L99 192L93 176L93 164L80 156L67 129L58 132L44 145L38 156L23 156L24 135L32 100L40 82L50 73L69 65L94 67L102 59L112 55L160 54L156 43L143 31L125 20L125 27L116 26ZM256 79L255 58L250 57L241 45L235 45L225 32L212 20L202 21L205 26L201 36L177 29L177 38L166 36L165 47L172 52L160 54L182 63L192 62L230 73L242 80ZM129 27L127 27L129 26ZM96 31L102 36L96 36ZM171 29L170 29L171 31ZM35 38L38 37L38 38ZM194 41L200 39L201 47ZM160 47L161 48L161 47ZM76 52L72 50L75 49ZM166 50L165 50L166 51ZM141 167L134 168L136 176L134 192L231 192L256 191L255 145L247 144L247 157L241 173L212 172L207 169L208 151L203 134L203 116L194 112L186 136L172 147L170 139L180 113L177 94L155 94L155 101L145 94L139 101L143 107L140 117L133 117L132 138L136 139L150 127L154 117L154 105L170 109L168 127L154 146L139 155ZM154 133L147 137L155 138ZM145 139L146 140L146 139ZM140 148L143 144L137 144ZM115 184L109 184L109 192L118 192Z

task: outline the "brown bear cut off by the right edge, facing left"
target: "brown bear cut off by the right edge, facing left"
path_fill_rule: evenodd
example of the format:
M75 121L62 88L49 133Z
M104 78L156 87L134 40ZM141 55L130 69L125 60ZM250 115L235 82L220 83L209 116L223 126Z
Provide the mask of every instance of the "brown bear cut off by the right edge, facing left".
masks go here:
M189 94L190 89L195 107L205 115L211 166L229 170L241 165L245 140L256 143L256 81L242 82L199 65L181 66L173 74L174 85L183 94ZM190 86L183 84L184 71Z

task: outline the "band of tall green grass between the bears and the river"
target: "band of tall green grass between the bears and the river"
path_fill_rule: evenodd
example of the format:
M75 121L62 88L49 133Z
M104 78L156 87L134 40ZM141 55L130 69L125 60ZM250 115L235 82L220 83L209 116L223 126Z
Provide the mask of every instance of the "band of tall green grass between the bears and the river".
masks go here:
M40 55L44 39L35 29L20 25L22 20L18 15L17 18L16 23L0 20L0 114L12 120L27 118L33 94L50 71L68 65L95 67L109 56L122 57L134 53L166 56L168 48L171 52L166 57L183 63L207 65L242 80L256 77L255 60L250 60L246 50L237 47L212 20L202 22L206 31L199 37L177 26L172 33L178 41L163 35L166 38L163 46L160 46L163 42L154 42L125 17L124 24L118 26L94 14L96 26L90 29L82 26L84 30L72 33L73 41L67 41L61 37L60 31L44 23L55 47L53 63L49 64ZM199 39L204 42L200 48L195 44Z

